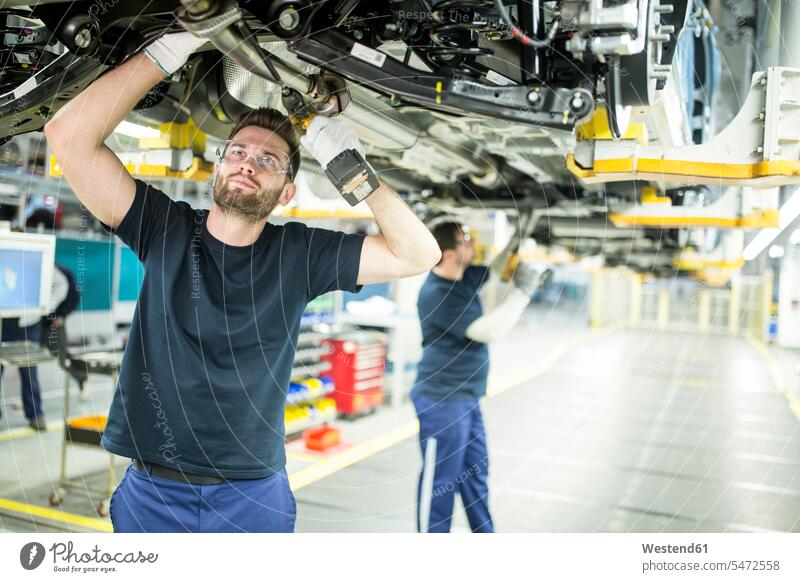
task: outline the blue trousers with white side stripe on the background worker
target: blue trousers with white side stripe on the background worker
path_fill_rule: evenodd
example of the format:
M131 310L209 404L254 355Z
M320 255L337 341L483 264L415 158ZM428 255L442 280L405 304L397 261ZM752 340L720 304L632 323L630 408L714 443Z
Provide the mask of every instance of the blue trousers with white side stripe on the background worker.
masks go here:
M460 494L472 531L493 532L489 454L478 401L436 401L414 392L411 399L419 418L422 449L417 531L449 532L455 496Z

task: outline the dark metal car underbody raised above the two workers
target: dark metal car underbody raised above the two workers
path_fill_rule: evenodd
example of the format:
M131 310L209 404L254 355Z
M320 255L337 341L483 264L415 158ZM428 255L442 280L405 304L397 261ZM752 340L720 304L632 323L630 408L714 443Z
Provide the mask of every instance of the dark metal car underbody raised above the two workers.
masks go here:
M11 0L0 16L4 140L39 131L158 36L190 30L208 44L137 106L137 122L191 119L224 139L243 111L280 108L288 86L318 114L348 118L372 165L412 203L520 222L535 213L547 220L525 234L538 243L637 270L673 269L674 253L696 238L614 226L609 211L646 184L582 184L565 160L589 120L601 119L611 139L644 126L660 145L714 133L720 51L701 0L155 0L144 9ZM708 203L721 189L662 195ZM700 234L697 244L718 238Z

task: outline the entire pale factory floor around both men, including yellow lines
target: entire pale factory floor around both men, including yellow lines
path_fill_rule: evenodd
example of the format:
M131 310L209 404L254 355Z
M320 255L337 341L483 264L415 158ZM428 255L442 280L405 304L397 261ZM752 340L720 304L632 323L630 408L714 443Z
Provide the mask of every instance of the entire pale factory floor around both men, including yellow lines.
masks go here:
M534 306L491 348L483 402L491 508L504 532L800 531L800 353L746 337L608 328ZM63 392L41 370L51 429L31 433L6 372L0 531L110 531L102 495L48 504L58 480ZM77 412L105 412L93 381ZM339 421L327 454L287 446L299 532L411 532L420 453L408 403ZM107 455L69 449L71 473L102 485ZM118 459L121 474L125 460ZM454 531L467 531L457 507Z

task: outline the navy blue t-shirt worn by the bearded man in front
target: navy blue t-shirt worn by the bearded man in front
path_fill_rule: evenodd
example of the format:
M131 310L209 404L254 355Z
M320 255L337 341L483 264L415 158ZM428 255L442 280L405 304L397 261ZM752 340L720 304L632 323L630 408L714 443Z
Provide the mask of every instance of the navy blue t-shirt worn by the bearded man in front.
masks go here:
M268 223L237 247L214 238L207 217L136 180L114 232L144 280L101 444L187 473L266 477L286 464L302 313L328 291L358 291L364 237Z

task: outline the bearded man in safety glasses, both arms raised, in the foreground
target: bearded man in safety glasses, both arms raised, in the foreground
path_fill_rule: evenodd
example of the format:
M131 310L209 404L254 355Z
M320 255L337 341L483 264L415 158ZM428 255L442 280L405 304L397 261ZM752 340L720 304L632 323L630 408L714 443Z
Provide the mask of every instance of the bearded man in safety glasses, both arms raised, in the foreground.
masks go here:
M203 44L166 35L108 72L45 127L65 178L145 269L102 445L132 459L115 531L292 531L284 404L301 314L314 297L430 268L439 249L386 185L367 199L381 236L269 224L295 194L297 135L275 110L240 118L218 151L208 211L133 179L103 142ZM325 167L363 150L315 118L303 145Z

